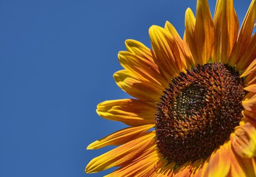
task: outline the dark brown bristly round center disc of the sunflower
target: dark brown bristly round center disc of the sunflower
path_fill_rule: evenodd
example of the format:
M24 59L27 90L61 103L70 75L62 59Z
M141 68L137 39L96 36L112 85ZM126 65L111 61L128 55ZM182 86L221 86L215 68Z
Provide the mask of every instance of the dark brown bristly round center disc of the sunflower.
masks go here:
M178 165L206 159L242 118L243 79L232 67L198 65L174 77L157 103L156 143Z

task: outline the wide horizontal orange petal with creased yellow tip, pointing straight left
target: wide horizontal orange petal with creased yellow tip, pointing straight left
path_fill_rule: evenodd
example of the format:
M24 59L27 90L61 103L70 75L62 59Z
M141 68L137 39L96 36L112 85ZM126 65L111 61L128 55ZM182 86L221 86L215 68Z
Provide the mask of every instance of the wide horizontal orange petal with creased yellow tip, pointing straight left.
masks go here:
M154 106L135 99L104 101L97 106L99 116L127 125L144 125L155 123Z

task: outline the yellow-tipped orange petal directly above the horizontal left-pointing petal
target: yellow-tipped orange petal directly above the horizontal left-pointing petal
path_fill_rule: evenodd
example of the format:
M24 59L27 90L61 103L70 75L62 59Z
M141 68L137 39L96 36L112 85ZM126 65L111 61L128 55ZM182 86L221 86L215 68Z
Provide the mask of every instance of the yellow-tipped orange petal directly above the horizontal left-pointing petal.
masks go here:
M114 74L117 85L132 97L149 102L159 102L162 93L159 89L150 85L150 82L140 80L127 70L121 70Z

